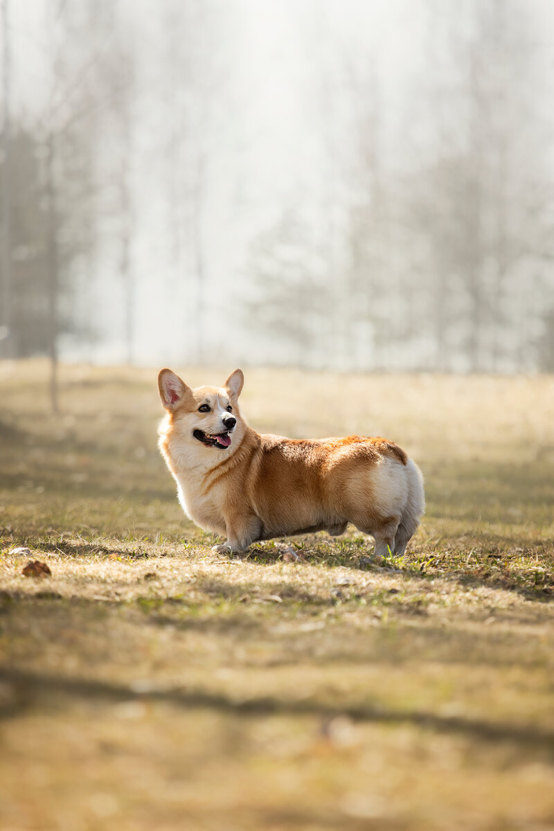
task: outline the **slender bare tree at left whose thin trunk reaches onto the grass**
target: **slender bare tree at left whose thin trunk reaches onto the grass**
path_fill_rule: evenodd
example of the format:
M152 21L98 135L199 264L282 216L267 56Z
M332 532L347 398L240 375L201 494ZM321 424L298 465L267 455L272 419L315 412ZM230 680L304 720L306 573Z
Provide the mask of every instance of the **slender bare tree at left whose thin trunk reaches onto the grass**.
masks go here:
M94 258L96 248L96 199L102 187L96 177L98 120L120 88L99 71L106 37L109 41L107 6L91 2L77 7L60 0L47 7L47 95L42 110L28 119L40 164L38 204L54 411L58 409L58 339L69 331L75 311L72 297L91 278L86 263ZM80 328L81 337L91 336L90 317L80 322Z

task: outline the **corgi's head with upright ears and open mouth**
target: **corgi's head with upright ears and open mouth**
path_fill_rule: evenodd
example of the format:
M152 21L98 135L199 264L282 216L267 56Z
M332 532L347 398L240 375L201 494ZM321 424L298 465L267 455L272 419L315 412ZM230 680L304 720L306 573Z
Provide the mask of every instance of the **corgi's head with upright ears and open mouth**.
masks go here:
M179 439L179 445L190 443L206 453L229 451L238 445L244 433L238 410L243 381L243 372L236 369L222 387L199 386L193 390L173 371L163 369L158 386L169 414L168 432Z

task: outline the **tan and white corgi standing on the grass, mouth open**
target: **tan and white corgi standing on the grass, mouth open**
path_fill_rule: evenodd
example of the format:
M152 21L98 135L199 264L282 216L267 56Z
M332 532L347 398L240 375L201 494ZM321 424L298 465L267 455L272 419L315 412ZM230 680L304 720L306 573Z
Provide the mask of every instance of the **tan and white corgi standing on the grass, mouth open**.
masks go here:
M226 538L218 552L263 539L328 531L349 523L375 539L375 555L404 553L424 513L423 476L393 441L351 435L286 439L259 435L238 407L239 369L223 386L191 389L159 373L166 415L159 450L184 513Z

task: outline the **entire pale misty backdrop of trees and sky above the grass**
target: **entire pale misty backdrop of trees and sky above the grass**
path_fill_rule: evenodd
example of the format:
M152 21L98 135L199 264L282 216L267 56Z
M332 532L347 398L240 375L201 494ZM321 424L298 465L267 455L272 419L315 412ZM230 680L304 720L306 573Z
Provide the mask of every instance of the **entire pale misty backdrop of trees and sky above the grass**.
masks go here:
M0 354L554 370L549 0L0 0Z

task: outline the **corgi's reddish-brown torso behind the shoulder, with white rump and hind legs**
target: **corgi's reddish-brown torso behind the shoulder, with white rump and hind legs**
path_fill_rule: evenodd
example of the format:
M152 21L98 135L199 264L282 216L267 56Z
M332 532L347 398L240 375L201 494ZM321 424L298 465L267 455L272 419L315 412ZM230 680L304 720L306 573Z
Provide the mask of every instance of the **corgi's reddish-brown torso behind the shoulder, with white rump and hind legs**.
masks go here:
M292 440L260 436L249 500L262 538L327 530L351 522L380 553L404 553L424 511L423 477L394 442L349 436Z

